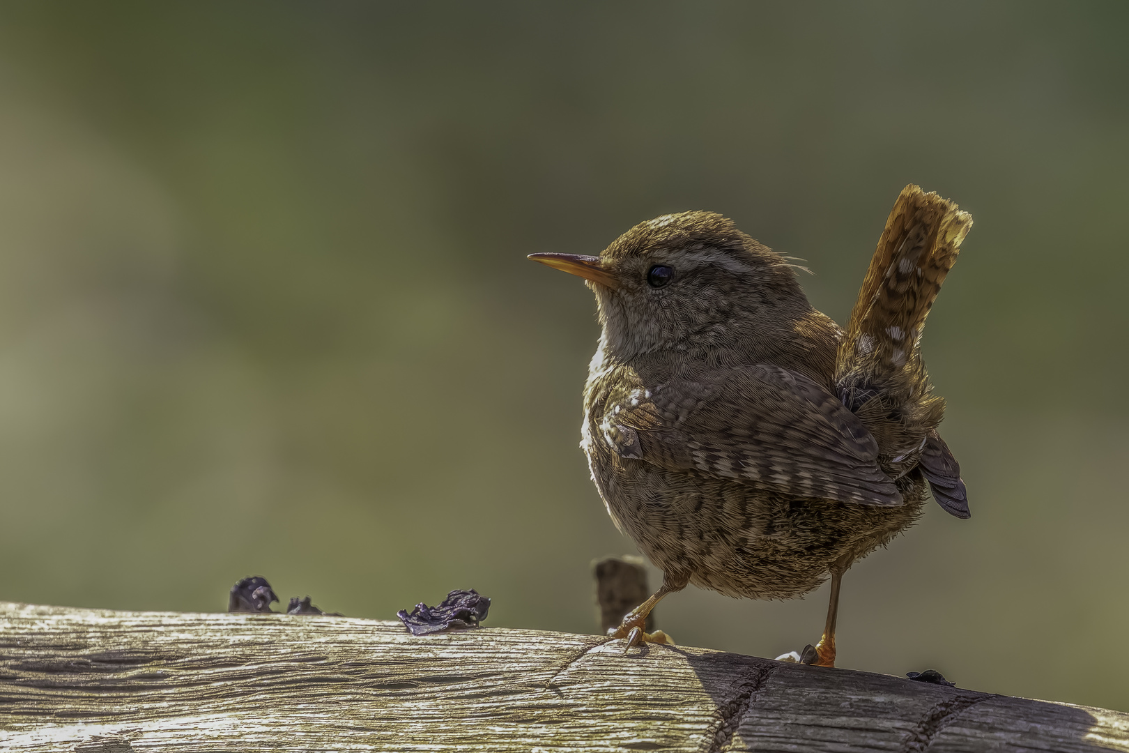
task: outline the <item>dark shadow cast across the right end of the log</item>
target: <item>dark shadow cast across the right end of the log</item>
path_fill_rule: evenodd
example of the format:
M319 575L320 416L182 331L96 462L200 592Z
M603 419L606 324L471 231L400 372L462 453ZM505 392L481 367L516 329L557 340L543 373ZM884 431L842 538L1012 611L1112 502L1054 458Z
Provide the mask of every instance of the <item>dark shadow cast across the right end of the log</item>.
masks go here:
M983 750L1045 750L1041 730L1074 733L1066 751L1126 751L1118 720L1103 721L1100 709L982 693L904 677L776 662L741 654L700 654L677 647L717 706L711 750L755 748L754 741L820 739L834 745L855 735L849 719L872 719L874 743L917 752L964 750L974 741ZM814 682L822 675L825 682ZM904 683L913 686L909 700ZM803 713L797 713L803 709ZM1110 728L1111 735L1103 735ZM947 744L946 744L947 742Z

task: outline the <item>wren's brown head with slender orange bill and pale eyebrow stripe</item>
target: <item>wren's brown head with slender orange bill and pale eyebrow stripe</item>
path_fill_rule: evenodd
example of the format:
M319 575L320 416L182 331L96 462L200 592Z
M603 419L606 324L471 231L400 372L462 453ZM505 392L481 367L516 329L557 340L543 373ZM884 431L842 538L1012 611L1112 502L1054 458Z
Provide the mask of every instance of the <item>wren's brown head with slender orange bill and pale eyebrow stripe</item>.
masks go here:
M788 260L714 212L641 222L599 256L530 259L587 280L620 358L771 338L809 310Z

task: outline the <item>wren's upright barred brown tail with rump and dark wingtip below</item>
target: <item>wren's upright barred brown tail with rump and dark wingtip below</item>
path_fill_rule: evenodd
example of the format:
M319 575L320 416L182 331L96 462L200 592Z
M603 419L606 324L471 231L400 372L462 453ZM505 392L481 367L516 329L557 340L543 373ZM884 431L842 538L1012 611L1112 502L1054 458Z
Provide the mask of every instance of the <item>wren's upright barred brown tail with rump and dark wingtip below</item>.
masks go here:
M951 504L942 506L960 517L968 517L964 484L936 431L945 401L931 394L920 341L971 227L972 217L955 203L905 186L878 239L835 361L843 404L878 441L883 469L899 478L920 465L934 497L938 502L945 497Z

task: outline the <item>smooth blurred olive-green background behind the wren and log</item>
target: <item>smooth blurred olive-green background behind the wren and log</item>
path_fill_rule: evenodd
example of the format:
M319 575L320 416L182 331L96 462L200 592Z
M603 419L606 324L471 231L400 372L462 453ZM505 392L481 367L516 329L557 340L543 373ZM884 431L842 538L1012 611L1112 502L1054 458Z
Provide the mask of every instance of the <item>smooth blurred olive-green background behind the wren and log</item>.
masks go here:
M843 586L840 664L1129 710L1129 6L0 6L0 598L240 576L593 632L590 294L525 260L712 209L843 322L910 182L975 227L924 352L973 518ZM654 580L657 584L657 578ZM657 612L776 656L825 589Z

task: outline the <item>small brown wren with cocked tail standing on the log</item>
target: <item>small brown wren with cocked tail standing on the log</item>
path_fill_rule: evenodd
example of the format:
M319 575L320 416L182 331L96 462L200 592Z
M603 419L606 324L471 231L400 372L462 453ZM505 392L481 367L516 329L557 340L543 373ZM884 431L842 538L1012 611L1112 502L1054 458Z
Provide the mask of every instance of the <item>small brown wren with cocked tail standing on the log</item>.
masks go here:
M917 522L930 491L970 516L920 340L971 226L905 186L846 329L808 301L797 260L715 212L641 222L598 256L530 255L595 294L580 447L615 526L663 571L609 630L624 653L673 642L647 615L688 584L787 599L830 578L800 660L834 666L847 569Z

